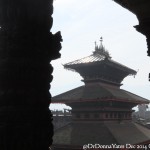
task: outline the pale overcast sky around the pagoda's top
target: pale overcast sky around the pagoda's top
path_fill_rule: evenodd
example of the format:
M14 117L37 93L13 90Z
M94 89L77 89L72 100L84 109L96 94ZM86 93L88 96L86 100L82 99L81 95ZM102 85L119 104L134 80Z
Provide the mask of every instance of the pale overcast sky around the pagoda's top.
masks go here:
M63 43L61 58L52 61L52 96L83 85L81 76L62 64L92 54L102 36L113 60L139 70L135 78L126 77L121 88L150 99L150 58L145 36L133 27L138 25L134 14L113 0L55 0L53 19L51 31L61 31Z

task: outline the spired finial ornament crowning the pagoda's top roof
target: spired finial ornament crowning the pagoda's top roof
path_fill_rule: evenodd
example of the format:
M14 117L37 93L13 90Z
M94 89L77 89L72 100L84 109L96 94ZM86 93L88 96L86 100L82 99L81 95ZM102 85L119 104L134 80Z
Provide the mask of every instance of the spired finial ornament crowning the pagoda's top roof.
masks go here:
M105 56L105 58L111 58L109 52L103 46L103 37L100 37L100 45L98 46L95 41L95 51L93 52L94 55L99 54Z

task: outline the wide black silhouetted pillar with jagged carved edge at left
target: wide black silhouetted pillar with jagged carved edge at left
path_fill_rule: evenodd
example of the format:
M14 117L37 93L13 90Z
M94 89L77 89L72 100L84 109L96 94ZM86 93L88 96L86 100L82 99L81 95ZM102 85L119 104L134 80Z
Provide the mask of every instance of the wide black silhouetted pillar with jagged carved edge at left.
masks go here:
M52 34L53 0L0 0L0 150L48 150L49 93L60 57Z

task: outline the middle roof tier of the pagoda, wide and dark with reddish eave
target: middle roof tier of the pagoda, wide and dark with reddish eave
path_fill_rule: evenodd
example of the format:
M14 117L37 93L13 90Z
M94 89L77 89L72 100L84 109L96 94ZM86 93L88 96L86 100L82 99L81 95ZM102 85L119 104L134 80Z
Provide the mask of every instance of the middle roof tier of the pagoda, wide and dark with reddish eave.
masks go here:
M150 101L141 96L120 89L119 87L101 84L84 85L59 94L52 98L52 103L74 103L84 101L124 101L137 104L148 104Z

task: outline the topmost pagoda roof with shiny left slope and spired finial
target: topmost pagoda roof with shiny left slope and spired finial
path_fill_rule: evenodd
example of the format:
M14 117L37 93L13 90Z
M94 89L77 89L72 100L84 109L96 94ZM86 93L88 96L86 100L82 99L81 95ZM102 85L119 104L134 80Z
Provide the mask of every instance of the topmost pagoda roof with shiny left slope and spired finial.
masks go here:
M96 66L96 65L98 67L101 67L101 65L103 65L103 64L106 64L107 66L112 67L112 68L117 68L118 70L125 72L126 76L129 74L131 74L131 75L136 74L135 70L133 70L121 63L118 63L111 58L109 52L105 49L105 47L102 44L102 39L101 39L100 46L96 45L96 43L95 43L95 51L90 56L83 57L81 59L77 59L75 61L66 63L63 66L65 69L76 71L76 72L80 73L79 69L80 68L83 69L84 66L86 68L88 66ZM91 70L92 68L89 67L89 69ZM107 72L108 72L108 70L107 70ZM113 73L115 73L115 72L113 72Z

